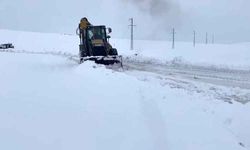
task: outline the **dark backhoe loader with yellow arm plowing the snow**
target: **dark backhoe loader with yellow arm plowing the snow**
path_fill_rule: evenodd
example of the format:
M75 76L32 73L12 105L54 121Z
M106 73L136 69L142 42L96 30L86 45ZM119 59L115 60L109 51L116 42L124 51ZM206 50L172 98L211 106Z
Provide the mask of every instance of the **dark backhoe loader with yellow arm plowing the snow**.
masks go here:
M97 64L111 65L121 64L122 56L118 55L117 49L109 43L111 28L104 25L93 26L88 24L82 29L79 24L77 34L80 37L79 56L80 63L94 61Z

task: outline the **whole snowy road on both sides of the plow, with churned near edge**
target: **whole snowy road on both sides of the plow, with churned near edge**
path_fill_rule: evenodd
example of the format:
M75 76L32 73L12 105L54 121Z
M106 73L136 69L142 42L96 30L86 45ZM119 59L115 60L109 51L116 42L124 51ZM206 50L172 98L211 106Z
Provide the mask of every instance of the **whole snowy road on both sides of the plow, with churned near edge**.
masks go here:
M77 55L60 51L1 50L0 52L55 55L78 63ZM107 68L117 70L117 67L108 66ZM119 67L118 70L121 71ZM135 61L134 58L125 57L123 59L122 71L135 75L137 78L144 76L142 80L147 80L145 78L151 77L158 80L164 79L164 84L173 88L204 93L229 103L237 101L245 104L250 101L250 71L246 70L218 69L187 64L154 64ZM133 74L133 72L137 73ZM202 86L201 83L203 84Z

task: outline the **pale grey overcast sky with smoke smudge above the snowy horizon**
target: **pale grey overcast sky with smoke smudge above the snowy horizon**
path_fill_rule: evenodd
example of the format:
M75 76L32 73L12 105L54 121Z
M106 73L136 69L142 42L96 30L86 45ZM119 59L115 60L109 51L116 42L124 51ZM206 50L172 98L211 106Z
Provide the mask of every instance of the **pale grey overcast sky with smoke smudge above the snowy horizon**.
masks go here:
M250 0L0 0L0 28L75 33L80 18L113 28L113 37L129 37L129 18L137 39L199 41L208 32L217 42L250 42Z

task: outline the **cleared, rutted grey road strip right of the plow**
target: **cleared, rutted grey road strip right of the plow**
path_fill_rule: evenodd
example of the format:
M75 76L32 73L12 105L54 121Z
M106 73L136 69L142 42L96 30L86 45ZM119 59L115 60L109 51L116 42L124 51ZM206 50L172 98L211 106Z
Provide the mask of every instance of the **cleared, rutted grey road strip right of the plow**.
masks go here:
M177 79L205 82L221 86L239 87L250 90L250 71L224 70L202 66L162 65L150 63L123 63L125 69L157 73Z

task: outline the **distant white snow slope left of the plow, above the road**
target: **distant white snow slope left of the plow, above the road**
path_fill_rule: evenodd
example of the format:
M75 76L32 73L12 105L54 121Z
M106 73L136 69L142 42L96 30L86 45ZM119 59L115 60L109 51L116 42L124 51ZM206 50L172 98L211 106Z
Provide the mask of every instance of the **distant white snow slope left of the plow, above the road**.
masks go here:
M78 53L77 36L37 33L12 30L0 30L0 43L13 43L16 50L26 51L62 51Z

